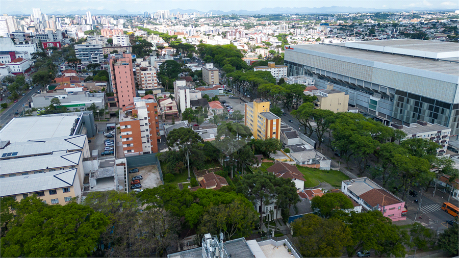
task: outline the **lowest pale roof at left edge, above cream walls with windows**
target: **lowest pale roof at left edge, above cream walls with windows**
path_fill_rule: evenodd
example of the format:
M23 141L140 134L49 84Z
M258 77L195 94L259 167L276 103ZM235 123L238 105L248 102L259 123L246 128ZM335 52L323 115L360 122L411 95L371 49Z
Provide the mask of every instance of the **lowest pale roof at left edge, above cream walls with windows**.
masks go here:
M34 193L57 188L70 187L77 169L6 177L0 180L0 196Z

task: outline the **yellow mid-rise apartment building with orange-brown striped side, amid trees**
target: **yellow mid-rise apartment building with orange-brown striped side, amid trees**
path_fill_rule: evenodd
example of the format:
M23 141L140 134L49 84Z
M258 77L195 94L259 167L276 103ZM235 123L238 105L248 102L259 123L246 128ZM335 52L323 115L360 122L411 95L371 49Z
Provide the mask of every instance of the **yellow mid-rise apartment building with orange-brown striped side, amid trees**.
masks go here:
M281 118L269 112L269 102L257 99L246 103L244 125L255 139L281 139Z

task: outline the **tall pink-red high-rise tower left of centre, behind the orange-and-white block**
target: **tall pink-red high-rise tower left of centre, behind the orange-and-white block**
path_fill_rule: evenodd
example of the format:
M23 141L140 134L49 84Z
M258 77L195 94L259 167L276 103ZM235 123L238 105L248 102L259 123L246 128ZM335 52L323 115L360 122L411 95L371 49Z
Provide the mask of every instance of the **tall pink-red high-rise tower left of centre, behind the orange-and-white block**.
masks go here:
M131 54L115 54L109 59L110 84L118 107L130 105L136 96Z

